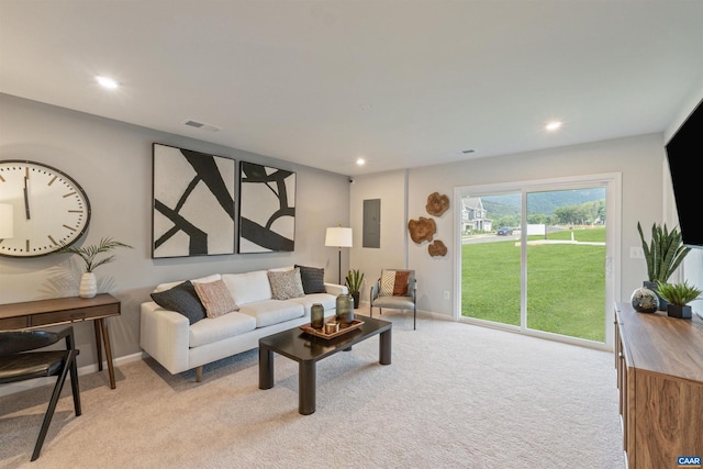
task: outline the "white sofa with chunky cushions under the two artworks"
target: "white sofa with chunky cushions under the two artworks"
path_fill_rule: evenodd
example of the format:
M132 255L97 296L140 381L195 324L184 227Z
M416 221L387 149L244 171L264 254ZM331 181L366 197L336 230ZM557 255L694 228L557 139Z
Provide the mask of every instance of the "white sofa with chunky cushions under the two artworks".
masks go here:
M194 368L196 379L201 381L203 365L257 348L260 337L310 322L310 308L314 303L324 306L325 316L334 315L337 295L348 292L345 286L323 283L320 279L316 291L324 284L324 292L276 299L281 295L277 295L276 284L271 288L270 272L294 270L289 267L215 273L190 280L193 284L221 280L238 306L238 311L200 319L192 324L183 313L159 306L156 301L144 302L141 305L140 345L169 372L175 375ZM169 291L170 294L171 289L181 284L182 281L163 283L154 293Z

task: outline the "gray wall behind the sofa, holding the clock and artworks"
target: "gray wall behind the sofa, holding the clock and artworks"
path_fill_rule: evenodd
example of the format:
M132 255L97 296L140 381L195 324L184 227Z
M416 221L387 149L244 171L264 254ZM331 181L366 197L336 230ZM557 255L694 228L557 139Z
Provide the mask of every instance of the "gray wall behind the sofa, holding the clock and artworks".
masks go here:
M152 259L152 144L154 142L297 171L294 253ZM92 217L79 244L112 236L134 246L96 273L100 291L122 302L109 321L115 358L141 351L140 303L159 282L212 272L242 272L303 264L325 267L337 281L337 249L324 246L325 228L349 221L346 176L0 94L0 159L29 159L71 176L90 199ZM0 303L75 295L80 264L69 255L0 257ZM348 252L343 253L343 271ZM77 324L79 365L97 361L92 323Z

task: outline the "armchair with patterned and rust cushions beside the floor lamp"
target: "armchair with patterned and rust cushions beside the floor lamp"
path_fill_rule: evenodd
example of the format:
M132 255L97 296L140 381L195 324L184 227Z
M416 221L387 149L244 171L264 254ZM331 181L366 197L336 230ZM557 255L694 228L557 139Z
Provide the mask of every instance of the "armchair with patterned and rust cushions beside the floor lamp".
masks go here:
M417 282L415 271L409 269L383 269L381 277L371 286L369 313L373 317L373 308L383 313L383 308L391 310L412 310L413 330L417 322L416 299Z

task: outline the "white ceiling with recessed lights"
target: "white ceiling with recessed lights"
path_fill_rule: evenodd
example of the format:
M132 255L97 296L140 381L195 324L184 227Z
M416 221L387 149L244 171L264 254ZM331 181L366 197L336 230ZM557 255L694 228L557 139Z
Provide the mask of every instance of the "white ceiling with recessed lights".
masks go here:
M0 92L358 175L665 131L703 82L702 20L700 0L0 0Z

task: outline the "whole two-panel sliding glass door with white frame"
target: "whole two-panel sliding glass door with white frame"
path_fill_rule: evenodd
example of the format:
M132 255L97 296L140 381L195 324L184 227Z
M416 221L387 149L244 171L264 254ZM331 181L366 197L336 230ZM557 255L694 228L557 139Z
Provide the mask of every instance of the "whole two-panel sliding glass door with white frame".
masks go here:
M610 343L611 183L574 179L458 190L459 320Z

